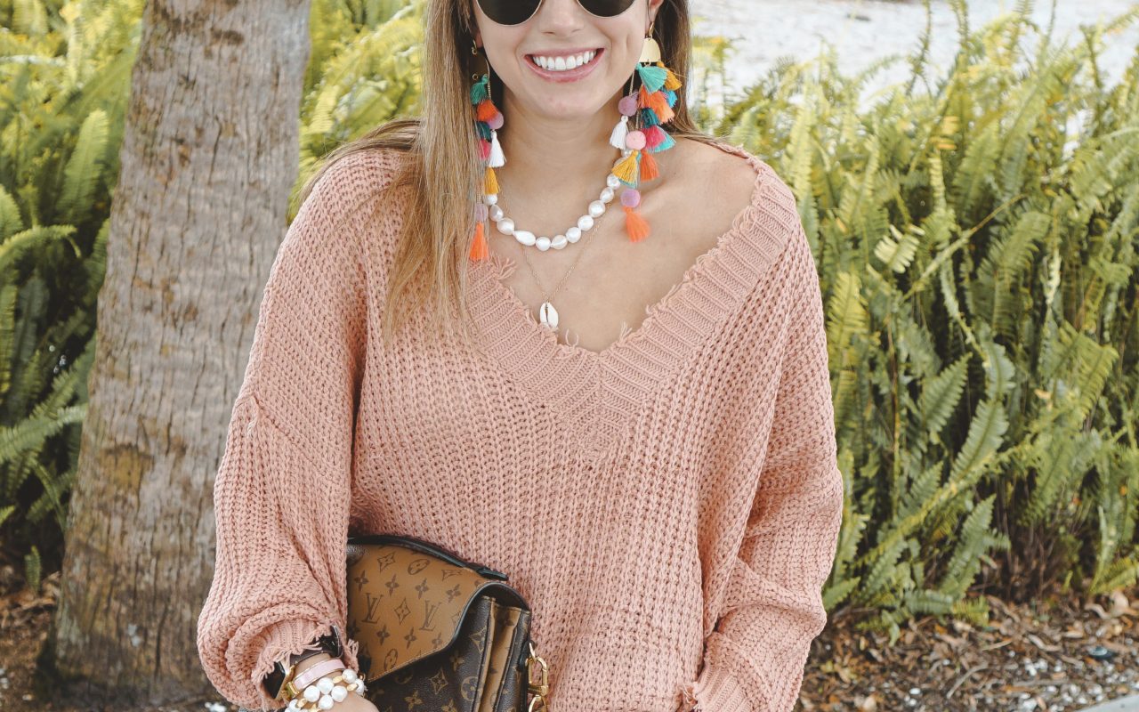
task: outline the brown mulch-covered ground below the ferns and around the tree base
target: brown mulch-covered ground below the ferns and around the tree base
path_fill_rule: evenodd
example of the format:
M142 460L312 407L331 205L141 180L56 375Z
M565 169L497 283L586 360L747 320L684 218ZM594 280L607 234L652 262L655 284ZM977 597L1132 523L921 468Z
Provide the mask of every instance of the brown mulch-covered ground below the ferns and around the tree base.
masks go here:
M27 684L56 606L58 574L34 596L0 567L0 710L3 712L230 712L220 697L159 707L62 706ZM894 646L831 616L812 644L801 712L1060 712L1139 693L1139 587L1081 603L989 599L990 624L919 619Z

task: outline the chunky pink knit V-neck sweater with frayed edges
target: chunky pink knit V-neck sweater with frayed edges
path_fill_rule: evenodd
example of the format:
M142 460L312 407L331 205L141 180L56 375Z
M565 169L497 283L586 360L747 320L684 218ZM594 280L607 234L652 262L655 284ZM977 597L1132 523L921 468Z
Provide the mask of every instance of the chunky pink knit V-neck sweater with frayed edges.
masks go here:
M316 186L265 285L214 485L206 674L280 706L273 661L345 628L349 533L435 541L533 607L551 712L787 712L827 615L843 510L819 280L787 186L751 204L644 324L562 344L500 281L466 288L489 335L379 338L404 188L347 208L401 156ZM355 666L355 641L345 662Z

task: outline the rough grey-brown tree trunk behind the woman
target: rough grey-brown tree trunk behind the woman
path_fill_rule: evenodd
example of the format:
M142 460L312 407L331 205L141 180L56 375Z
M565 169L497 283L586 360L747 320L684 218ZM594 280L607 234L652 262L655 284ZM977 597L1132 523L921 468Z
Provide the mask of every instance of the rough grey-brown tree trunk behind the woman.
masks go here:
M59 609L57 691L212 696L195 646L213 480L287 228L306 0L151 0L112 205Z

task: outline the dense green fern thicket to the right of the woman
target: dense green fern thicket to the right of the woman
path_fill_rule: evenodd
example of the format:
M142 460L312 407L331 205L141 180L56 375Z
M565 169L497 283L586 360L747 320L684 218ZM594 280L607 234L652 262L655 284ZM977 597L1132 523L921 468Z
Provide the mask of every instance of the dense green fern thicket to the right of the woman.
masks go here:
M825 601L894 637L917 613L984 622L980 588L1139 573L1139 55L1114 88L1097 65L1139 10L1056 47L1030 2L975 32L952 7L948 76L927 28L869 108L879 67L825 52L719 128L792 186L826 292L850 501Z

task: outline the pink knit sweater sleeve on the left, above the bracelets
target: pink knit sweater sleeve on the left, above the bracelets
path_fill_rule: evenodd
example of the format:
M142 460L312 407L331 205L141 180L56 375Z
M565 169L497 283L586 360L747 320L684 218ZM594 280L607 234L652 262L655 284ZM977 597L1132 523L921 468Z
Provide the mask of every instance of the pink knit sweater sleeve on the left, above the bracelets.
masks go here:
M347 162L349 159L344 159ZM345 539L364 271L334 165L289 224L262 293L249 360L213 485L216 551L198 615L206 677L230 702L280 707L273 663L345 631ZM342 638L357 666L357 644Z

